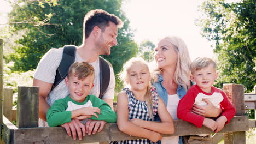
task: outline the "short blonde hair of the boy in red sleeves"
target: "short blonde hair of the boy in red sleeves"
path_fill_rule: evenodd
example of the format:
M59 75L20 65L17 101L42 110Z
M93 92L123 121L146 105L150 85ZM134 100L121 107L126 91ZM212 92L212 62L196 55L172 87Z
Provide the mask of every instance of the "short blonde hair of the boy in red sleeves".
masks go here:
M193 74L196 70L201 70L203 68L208 67L208 65L212 64L214 70L217 70L216 63L213 59L208 57L197 57L191 64L190 64L190 71Z

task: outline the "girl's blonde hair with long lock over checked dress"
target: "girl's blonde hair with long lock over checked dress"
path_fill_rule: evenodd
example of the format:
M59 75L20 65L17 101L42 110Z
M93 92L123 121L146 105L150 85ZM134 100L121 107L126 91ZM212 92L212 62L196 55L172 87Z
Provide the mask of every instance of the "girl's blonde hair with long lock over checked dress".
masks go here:
M141 63L143 65L146 66L148 73L150 74L149 71L149 66L148 66L148 62L146 62L143 58L141 57L133 57L131 58L129 61L127 61L124 65L123 65L123 69L120 71L120 73L118 74L119 79L123 82L124 86L129 86L129 83L127 82L127 79L129 77L128 71L130 70L130 68L132 67L132 65L136 64L136 63ZM150 77L152 75L150 74ZM153 105L152 105L152 93L151 93L151 82L149 81L148 83L148 87L147 87L147 92L145 94L145 98L147 101L147 106L148 106L148 113L149 113L149 118L153 119Z

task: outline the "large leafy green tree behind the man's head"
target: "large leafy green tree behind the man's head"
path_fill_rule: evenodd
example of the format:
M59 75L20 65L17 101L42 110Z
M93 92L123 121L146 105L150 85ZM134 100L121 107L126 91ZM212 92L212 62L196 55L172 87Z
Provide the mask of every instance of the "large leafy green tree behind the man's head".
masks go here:
M82 44L84 15L96 8L115 14L124 21L124 27L118 31L118 45L112 47L110 56L103 56L114 63L115 73L118 73L121 65L130 57L135 56L138 51L137 44L132 40L133 32L129 27L130 22L121 10L120 0L58 1L55 7L49 4L43 4L44 7L29 3L18 5L14 5L13 11L9 14L10 22L18 21L22 17L28 17L28 15L42 21L45 14L52 14L49 22L54 25L43 25L41 27L34 27L30 23L16 23L13 25L14 31L26 29L23 38L16 41L21 46L13 47L15 53L7 57L7 60L15 62L13 70L27 71L35 69L40 58L51 47Z

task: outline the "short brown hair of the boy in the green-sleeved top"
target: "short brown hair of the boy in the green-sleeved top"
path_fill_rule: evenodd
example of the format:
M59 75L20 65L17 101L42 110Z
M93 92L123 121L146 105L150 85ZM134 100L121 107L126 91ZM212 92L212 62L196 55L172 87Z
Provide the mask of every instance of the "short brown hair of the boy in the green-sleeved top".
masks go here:
M87 62L75 62L68 69L68 79L71 75L78 77L78 80L85 79L88 76L94 76L94 67Z

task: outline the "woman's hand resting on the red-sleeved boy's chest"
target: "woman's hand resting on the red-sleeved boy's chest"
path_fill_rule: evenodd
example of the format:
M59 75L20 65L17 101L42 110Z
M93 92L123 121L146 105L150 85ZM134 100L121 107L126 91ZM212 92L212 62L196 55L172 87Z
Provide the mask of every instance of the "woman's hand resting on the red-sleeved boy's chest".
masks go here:
M201 115L203 117L218 117L220 113L222 113L221 109L216 108L210 100L203 99L207 105L200 106L200 105L193 105L192 112L197 115Z

